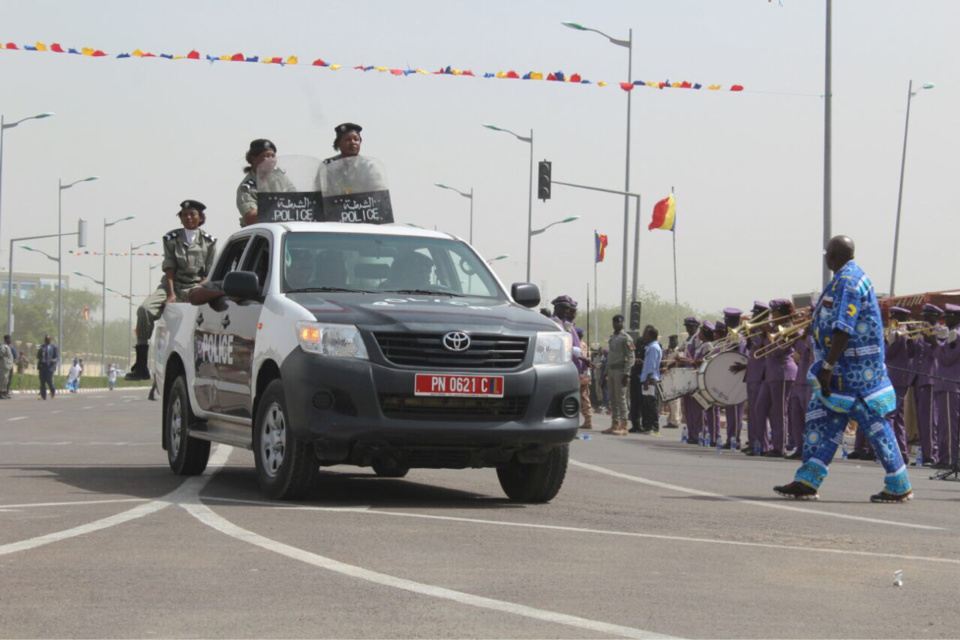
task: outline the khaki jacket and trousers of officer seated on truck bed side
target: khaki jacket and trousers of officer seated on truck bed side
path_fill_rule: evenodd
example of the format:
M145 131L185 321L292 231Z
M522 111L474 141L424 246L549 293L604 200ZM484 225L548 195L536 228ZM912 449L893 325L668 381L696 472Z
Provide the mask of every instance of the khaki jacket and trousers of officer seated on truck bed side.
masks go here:
M163 236L163 265L161 269L173 269L173 294L177 302L186 300L187 293L213 270L213 259L217 253L217 239L202 229L197 229L193 244L187 244L186 230L175 229ZM164 282L166 276L164 276ZM163 311L167 301L167 290L161 284L157 290L147 296L137 309L137 344L150 343L153 325Z

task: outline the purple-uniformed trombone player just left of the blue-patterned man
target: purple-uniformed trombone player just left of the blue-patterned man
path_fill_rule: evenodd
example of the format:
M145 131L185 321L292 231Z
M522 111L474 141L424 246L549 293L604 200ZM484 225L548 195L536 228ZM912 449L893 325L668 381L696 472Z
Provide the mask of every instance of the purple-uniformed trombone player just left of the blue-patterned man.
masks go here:
M770 301L770 315L772 322L767 327L764 343L773 340L771 334L776 327L785 325L793 315L793 303L786 298L777 298ZM785 455L784 444L789 416L787 401L790 398L790 388L797 377L797 363L793 360L793 345L777 349L764 358L764 379L760 398L757 401L758 415L761 422L764 418L770 420L770 434L772 447L763 442L763 455L768 458L782 458ZM766 431L766 430L764 430ZM764 433L764 436L767 434Z

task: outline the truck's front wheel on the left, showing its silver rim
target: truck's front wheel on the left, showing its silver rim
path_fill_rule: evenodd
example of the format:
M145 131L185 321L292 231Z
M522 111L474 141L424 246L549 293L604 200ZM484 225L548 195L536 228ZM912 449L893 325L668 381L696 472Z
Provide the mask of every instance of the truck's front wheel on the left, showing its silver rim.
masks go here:
M260 489L274 500L308 494L320 478L320 461L309 443L297 440L288 422L283 382L267 385L253 421L253 457Z

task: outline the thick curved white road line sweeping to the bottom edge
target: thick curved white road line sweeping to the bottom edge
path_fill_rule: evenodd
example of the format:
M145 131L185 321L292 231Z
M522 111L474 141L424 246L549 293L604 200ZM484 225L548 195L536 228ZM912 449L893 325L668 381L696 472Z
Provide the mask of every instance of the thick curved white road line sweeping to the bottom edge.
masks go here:
M397 578L384 573L378 573L376 571L371 571L355 565L346 564L332 558L327 558L304 549L299 549L276 540L271 540L270 538L261 536L260 534L242 529L229 520L214 513L210 507L199 502L194 502L192 504L181 504L181 506L200 522L212 527L220 533L230 536L231 538L252 544L260 547L261 549L266 549L267 551L278 553L293 560L305 562L315 567L327 569L328 571L333 571L351 578L357 578L359 580L365 580L367 582L372 582L385 587L392 587L394 589L401 589L411 593L439 598L441 600L451 600L453 602L472 607L479 607L481 609L512 613L518 616L532 618L534 620L541 620L543 622L551 622L554 624L577 627L579 629L587 629L605 635L616 635L626 638L669 637L656 634L651 631L634 629L633 627L624 627L616 624L610 624L608 622L600 622L599 620L589 620L587 618L571 616L565 613L537 609L522 604L505 602L503 600L494 600L493 598L484 598L482 596L475 596L462 591L455 591L453 589L447 589L444 587L436 587L429 584L414 582L413 580L406 580L404 578Z

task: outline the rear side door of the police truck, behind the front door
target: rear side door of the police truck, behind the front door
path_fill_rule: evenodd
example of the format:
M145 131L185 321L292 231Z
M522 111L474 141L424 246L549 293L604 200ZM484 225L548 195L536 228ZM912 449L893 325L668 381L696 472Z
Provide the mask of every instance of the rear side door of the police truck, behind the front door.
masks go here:
M226 246L211 280L222 282L224 276L240 267L243 250L250 242L250 236L234 238ZM204 411L219 411L217 400L217 361L220 349L220 311L225 308L225 299L214 300L211 304L197 309L196 326L193 331L194 380L193 391L197 405Z

